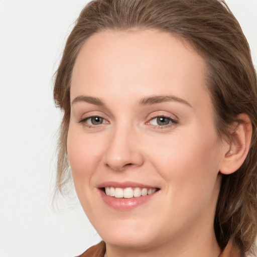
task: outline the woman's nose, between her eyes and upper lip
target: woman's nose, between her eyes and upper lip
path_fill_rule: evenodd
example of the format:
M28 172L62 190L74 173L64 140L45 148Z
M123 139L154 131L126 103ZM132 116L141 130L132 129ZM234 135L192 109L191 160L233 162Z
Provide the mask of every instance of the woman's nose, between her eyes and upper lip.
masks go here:
M124 126L116 127L104 154L105 165L114 171L143 165L139 141L139 136L132 130L124 129Z

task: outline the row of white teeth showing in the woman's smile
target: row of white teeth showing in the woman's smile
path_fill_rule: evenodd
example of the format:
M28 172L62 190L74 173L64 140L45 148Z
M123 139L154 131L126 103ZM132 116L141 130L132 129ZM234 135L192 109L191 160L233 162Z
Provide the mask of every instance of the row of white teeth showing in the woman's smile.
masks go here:
M115 198L132 198L132 197L140 197L151 195L156 192L156 188L119 188L119 187L105 187L105 194L108 196L114 196Z

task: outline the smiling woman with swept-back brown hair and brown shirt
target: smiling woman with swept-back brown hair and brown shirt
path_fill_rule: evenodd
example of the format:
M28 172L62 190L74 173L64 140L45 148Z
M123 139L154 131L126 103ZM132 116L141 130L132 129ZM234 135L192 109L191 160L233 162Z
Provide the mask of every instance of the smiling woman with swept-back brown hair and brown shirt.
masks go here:
M245 256L256 235L257 89L216 0L96 0L56 75L57 187L103 239L81 256Z

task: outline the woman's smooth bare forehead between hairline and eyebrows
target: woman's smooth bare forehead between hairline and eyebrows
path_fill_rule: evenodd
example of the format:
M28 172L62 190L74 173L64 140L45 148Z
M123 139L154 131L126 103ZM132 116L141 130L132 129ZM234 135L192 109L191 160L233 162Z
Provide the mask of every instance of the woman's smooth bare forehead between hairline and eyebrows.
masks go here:
M207 88L205 66L193 47L169 33L103 31L91 36L78 54L71 97L85 90L93 95L97 89L102 94L111 89L122 96L125 89L126 93L131 90L140 95L147 85L149 94L169 93L183 98L192 98L200 88L197 99L191 99L198 102Z

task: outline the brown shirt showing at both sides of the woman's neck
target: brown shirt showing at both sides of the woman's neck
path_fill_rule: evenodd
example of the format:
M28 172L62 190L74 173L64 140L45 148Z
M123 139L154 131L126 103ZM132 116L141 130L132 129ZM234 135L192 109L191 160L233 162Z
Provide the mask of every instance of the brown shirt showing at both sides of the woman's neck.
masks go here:
M77 257L104 257L105 251L105 243L101 241ZM243 257L243 254L241 254L237 248L233 247L231 243L228 243L219 257Z

